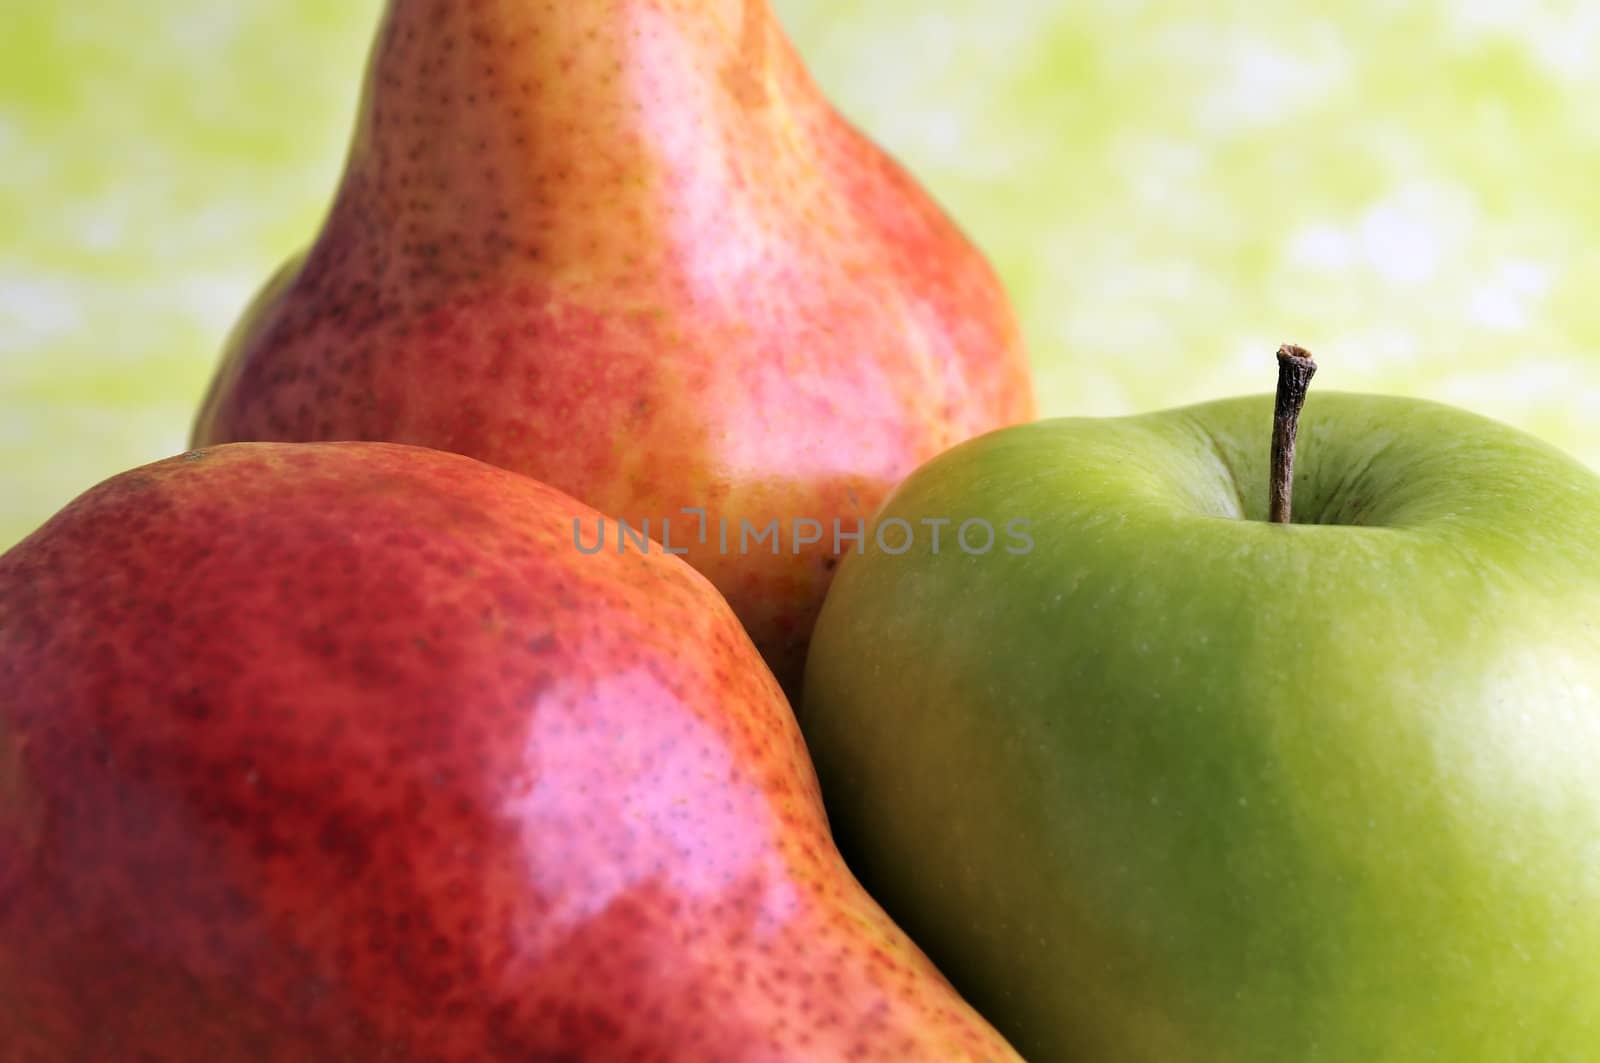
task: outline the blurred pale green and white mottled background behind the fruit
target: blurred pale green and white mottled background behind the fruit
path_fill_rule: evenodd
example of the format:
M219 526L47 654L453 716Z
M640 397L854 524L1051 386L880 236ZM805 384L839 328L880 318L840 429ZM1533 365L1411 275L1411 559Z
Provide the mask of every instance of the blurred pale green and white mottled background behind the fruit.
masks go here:
M994 256L1046 413L1430 395L1600 467L1600 5L778 0ZM182 448L314 234L378 0L10 0L0 548Z

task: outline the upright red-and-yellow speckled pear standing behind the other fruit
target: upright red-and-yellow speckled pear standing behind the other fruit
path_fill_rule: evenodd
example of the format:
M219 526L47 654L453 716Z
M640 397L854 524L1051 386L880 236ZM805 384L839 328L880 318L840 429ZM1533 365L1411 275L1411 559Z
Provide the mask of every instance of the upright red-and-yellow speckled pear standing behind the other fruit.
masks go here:
M834 519L1032 415L987 261L765 0L392 0L325 227L194 440L421 443L675 519L797 684ZM829 535L725 554L686 506Z

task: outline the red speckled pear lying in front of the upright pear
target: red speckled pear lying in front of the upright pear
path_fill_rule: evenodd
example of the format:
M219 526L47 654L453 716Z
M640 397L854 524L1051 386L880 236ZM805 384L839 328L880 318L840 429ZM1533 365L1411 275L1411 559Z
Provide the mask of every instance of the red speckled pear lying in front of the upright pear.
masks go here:
M240 443L0 557L0 1058L1014 1058L717 592L594 515Z

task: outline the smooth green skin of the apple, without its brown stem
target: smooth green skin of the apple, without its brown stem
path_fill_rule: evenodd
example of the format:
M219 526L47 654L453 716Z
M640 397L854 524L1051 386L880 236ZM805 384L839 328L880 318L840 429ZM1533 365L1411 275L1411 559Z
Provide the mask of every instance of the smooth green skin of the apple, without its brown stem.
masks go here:
M1600 479L1410 399L994 432L850 557L802 730L874 897L1029 1058L1600 1058ZM1240 515L1246 519L1240 519Z

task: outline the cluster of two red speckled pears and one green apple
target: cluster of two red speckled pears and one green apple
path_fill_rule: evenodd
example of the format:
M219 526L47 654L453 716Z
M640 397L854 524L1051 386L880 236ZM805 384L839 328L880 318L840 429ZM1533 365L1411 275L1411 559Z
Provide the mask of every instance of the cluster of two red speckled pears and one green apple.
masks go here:
M390 0L0 557L0 1063L1600 1058L1600 479L1278 359L1029 423L762 0Z

